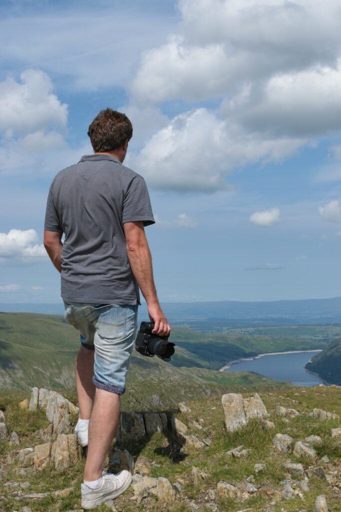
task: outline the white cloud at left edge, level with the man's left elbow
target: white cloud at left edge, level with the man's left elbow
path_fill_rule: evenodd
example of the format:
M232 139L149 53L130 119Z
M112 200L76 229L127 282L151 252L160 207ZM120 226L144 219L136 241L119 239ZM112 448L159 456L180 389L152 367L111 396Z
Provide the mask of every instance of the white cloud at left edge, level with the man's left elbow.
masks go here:
M33 263L46 258L46 250L38 244L38 234L34 229L11 229L8 233L0 233L1 261L14 259L22 263Z

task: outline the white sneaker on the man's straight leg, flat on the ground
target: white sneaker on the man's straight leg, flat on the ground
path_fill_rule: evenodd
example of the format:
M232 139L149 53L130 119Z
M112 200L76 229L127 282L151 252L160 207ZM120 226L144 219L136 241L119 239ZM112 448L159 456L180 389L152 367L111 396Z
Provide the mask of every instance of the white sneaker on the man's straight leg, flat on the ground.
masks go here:
M108 500L117 498L124 493L132 481L132 476L127 470L123 470L117 475L107 473L102 477L101 486L98 489L90 489L87 485L81 484L82 508L89 510L95 508Z

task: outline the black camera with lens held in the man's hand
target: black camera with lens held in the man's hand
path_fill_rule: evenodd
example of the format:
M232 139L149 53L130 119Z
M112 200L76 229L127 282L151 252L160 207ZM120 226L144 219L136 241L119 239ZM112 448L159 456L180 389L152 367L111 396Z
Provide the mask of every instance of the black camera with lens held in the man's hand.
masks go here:
M154 329L152 322L141 322L140 330L138 332L135 349L139 354L147 357L160 357L164 361L170 361L171 356L174 354L175 343L168 341L168 336L158 336L151 331Z

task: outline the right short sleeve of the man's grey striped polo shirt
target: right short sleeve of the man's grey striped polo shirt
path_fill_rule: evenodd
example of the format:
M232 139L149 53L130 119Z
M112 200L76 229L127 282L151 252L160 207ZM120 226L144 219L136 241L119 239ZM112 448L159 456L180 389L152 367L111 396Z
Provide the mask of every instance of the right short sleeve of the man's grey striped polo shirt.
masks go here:
M123 200L122 223L143 221L145 226L154 224L148 188L140 175L129 183Z

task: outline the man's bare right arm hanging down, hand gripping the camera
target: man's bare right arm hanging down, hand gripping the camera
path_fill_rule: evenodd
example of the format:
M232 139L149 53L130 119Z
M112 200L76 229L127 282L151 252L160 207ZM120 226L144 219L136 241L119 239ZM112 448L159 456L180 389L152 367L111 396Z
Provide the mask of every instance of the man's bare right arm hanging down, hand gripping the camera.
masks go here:
M130 267L146 299L150 319L155 324L152 332L160 336L168 336L171 328L158 302L151 254L143 222L126 222L123 228Z

